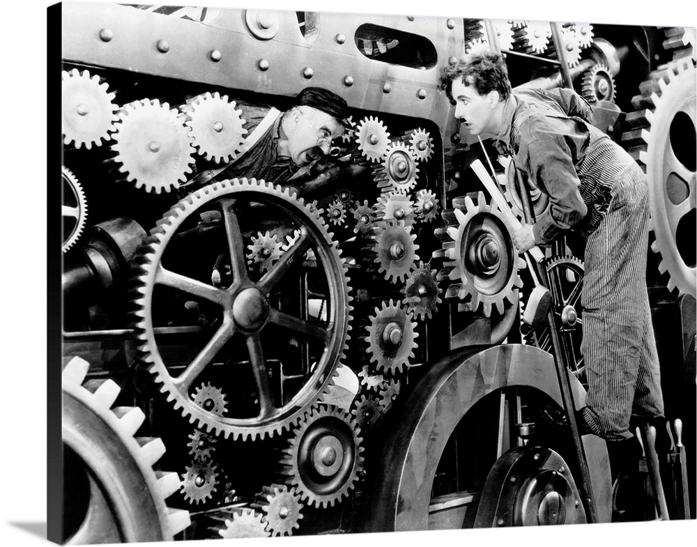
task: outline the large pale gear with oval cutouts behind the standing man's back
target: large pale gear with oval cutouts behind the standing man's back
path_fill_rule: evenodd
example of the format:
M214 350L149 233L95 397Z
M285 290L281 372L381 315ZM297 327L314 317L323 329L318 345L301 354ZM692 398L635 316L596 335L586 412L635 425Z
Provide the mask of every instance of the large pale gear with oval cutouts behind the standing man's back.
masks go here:
M631 120L638 146L630 154L645 169L649 183L653 252L661 254L659 271L668 272L668 289L697 294L694 234L696 231L697 70L689 59L672 63L647 82L643 97L654 109L638 111ZM636 98L635 98L636 100ZM632 102L636 102L633 100ZM622 136L627 140L627 134Z

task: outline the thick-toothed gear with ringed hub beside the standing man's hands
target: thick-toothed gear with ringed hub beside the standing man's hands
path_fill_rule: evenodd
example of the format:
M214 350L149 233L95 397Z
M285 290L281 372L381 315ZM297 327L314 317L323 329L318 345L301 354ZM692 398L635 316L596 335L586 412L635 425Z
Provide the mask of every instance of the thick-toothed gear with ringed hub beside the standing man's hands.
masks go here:
M447 277L453 283L445 297L471 298L471 311L481 306L486 317L491 316L491 307L503 315L505 300L517 304L514 289L523 286L518 270L525 267L525 261L513 245L514 231L495 203L487 205L483 192L477 195L476 205L467 196L462 203L453 200L453 206L458 225L448 226L447 234L455 244L443 247L452 261L443 265L452 267Z

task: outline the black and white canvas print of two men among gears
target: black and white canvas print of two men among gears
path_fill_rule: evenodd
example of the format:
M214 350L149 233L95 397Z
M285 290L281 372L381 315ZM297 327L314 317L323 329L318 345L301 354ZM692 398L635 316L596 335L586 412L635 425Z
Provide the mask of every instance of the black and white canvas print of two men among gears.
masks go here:
M47 539L694 522L694 22L225 3L47 9Z

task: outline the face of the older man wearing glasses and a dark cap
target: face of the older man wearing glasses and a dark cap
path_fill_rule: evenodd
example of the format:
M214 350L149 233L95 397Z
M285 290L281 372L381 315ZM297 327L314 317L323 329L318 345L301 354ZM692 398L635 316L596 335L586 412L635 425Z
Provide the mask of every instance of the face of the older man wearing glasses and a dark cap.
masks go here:
M293 163L302 167L323 155L328 155L332 141L344 132L336 118L312 107L299 109L293 131L288 132L288 153Z

